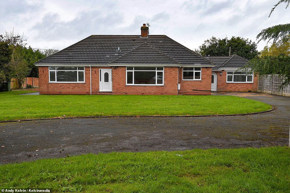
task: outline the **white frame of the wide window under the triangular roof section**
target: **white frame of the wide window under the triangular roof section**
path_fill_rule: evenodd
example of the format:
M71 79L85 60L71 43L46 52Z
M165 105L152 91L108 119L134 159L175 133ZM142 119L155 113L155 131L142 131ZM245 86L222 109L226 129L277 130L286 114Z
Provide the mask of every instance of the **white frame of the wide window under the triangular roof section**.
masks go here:
M155 67L155 70L135 70L136 67ZM162 67L163 70L157 70L157 68L160 68ZM133 70L128 70L128 68L133 68ZM135 72L155 72L155 81L156 81L156 84L134 84L134 78L135 78ZM128 72L132 72L133 73L133 76L132 76L132 84L128 83ZM162 72L162 84L157 84L157 80L158 80L158 76L160 75L157 75L157 73L160 73ZM126 66L126 85L128 86L164 86L164 67L163 66Z

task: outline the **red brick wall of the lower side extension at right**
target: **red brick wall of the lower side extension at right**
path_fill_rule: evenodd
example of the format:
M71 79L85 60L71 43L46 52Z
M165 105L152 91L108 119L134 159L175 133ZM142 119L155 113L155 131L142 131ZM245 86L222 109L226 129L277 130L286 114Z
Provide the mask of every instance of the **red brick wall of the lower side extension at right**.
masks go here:
M227 83L226 77L227 72L222 70L222 75L220 72L214 72L217 74L217 91L224 92L257 92L258 90L258 77L254 76L254 83Z

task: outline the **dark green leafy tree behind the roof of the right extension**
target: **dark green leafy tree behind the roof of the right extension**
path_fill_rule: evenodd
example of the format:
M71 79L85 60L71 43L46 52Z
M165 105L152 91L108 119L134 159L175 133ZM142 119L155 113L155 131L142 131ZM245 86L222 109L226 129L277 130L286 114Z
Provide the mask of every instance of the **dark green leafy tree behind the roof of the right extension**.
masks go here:
M237 54L248 60L254 58L259 53L255 42L234 36L231 39L217 39L216 37L212 37L205 40L199 47L199 50L195 51L203 56L228 56L230 47L231 54Z

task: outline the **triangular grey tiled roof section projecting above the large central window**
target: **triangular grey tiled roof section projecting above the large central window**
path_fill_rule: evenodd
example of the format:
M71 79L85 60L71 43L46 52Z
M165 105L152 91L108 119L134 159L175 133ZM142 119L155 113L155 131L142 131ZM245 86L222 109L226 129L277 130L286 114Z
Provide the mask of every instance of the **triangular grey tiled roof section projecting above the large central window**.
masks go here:
M109 64L166 64L180 66L181 63L145 42Z

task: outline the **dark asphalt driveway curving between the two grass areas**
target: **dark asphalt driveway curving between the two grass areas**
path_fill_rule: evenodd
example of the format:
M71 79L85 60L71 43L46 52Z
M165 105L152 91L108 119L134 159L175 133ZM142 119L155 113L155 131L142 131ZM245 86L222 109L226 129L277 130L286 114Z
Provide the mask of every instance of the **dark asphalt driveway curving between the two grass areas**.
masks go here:
M288 145L290 97L241 94L271 104L275 110L225 117L75 118L0 123L0 164L112 151Z

